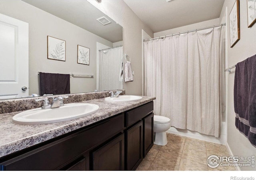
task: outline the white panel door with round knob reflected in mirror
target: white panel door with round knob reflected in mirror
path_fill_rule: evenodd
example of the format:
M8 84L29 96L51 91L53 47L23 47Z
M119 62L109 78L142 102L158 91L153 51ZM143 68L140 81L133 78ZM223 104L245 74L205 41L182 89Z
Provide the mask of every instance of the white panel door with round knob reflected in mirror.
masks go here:
M0 99L22 96L28 96L28 23L0 14Z

